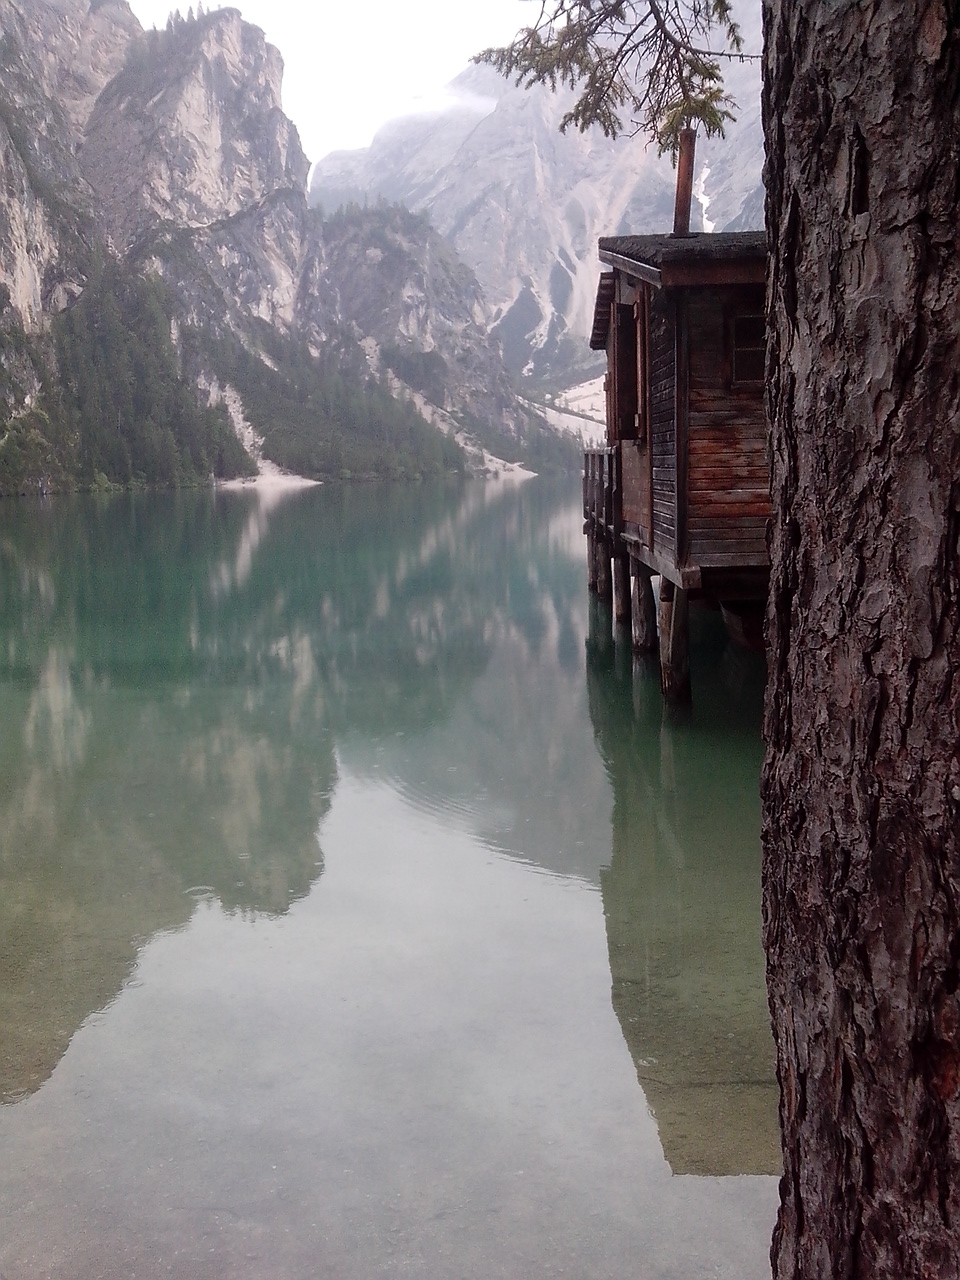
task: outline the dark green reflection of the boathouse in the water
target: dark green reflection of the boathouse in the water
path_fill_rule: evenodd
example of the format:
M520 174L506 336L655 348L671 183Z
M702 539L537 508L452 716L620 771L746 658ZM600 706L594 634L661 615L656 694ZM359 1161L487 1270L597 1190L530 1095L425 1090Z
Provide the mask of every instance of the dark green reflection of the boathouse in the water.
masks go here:
M759 937L763 664L692 614L695 700L594 605L590 718L613 786L600 873L613 1007L677 1174L778 1174L777 1088Z

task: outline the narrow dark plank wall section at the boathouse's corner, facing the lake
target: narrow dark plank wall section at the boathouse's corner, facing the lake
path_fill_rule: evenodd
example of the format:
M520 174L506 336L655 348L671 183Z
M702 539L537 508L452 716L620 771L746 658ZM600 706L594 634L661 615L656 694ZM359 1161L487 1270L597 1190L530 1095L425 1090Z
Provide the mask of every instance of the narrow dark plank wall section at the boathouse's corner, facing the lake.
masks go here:
M663 556L677 543L676 303L666 291L650 298L650 451L653 539Z

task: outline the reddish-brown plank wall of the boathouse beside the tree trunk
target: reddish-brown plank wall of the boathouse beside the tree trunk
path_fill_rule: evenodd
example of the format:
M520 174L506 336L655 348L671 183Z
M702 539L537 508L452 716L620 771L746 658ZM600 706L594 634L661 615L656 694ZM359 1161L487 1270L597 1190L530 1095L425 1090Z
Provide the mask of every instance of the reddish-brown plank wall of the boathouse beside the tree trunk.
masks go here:
M762 384L735 385L731 316L763 314L756 289L691 292L686 529L689 559L709 566L767 563L771 515Z

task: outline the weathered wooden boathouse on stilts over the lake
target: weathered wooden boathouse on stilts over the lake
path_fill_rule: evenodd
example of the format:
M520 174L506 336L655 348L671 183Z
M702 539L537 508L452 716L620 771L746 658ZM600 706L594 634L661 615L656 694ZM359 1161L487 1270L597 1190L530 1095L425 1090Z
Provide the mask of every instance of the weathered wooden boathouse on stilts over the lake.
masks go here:
M632 621L635 648L659 645L664 696L682 699L690 600L749 630L767 595L765 237L617 236L599 250L590 346L607 353L607 436L584 457L590 585Z

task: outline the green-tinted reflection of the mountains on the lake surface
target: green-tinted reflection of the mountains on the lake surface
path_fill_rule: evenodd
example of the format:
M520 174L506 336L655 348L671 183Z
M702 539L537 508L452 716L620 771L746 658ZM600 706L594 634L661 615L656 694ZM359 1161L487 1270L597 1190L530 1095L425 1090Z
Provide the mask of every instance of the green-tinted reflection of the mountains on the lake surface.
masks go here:
M182 927L197 899L276 914L310 890L337 744L394 744L397 774L420 753L411 794L447 806L454 773L426 763L424 735L460 741L495 648L512 646L522 687L545 639L568 636L554 704L589 745L570 696L572 539L549 485L1 504L0 1097L49 1076L142 940ZM530 696L512 727L488 707L492 735L463 735L486 756L492 838L516 847L530 812L515 810L525 778L502 749ZM556 764L549 719L532 722L544 750L527 759ZM580 792L599 777L594 762ZM575 801L568 851L584 845Z

